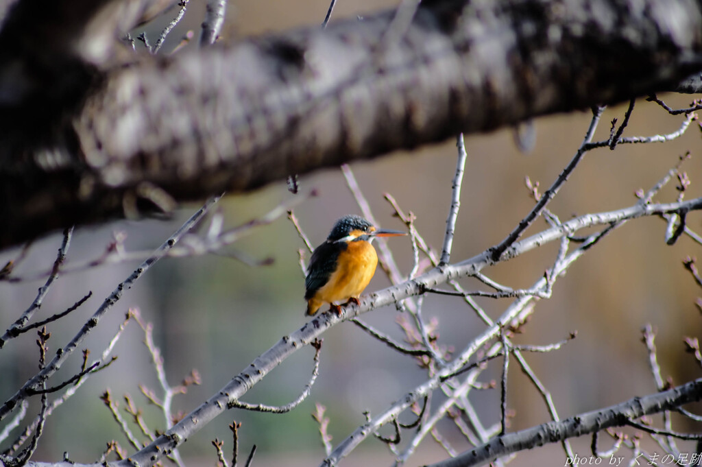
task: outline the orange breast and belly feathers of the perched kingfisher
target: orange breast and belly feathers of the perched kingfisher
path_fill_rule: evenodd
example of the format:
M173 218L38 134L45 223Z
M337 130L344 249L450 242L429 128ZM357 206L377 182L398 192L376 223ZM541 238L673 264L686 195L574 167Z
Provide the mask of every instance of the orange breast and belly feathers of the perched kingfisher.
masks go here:
M369 242L349 242L339 254L336 271L314 294L314 299L326 303L358 298L373 279L378 265L378 254Z

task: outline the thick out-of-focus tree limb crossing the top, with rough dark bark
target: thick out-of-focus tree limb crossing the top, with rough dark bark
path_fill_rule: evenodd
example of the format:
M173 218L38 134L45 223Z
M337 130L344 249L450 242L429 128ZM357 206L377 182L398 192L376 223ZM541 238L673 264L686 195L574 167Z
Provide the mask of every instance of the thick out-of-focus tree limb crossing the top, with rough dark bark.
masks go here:
M19 0L0 31L0 246L459 131L698 91L686 77L702 69L694 0L434 0L406 28L388 11L169 58L117 45L154 2L84 3Z

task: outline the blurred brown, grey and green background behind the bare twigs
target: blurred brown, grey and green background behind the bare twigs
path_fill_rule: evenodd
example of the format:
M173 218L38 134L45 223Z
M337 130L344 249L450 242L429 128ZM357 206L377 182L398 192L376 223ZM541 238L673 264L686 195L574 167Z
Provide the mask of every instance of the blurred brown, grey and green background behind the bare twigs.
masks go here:
M342 1L337 4L332 20L372 13L394 3ZM328 7L326 1L309 0L230 2L223 40L236 41L251 34L320 24ZM171 48L189 29L194 30L197 37L203 10L203 2L190 2L183 22L171 33ZM176 13L173 9L149 25L146 31L153 37L152 43ZM660 97L673 107L687 107L694 98ZM609 122L615 117L621 121L624 111L625 107L606 110L595 139L606 140ZM671 117L658 105L640 99L624 136L670 133L678 129L683 120L682 116ZM534 203L524 186L524 177L540 182L542 191L548 188L575 154L589 121L589 112L534 121L536 144L528 154L517 149L512 129L466 137L468 162L452 261L479 254L500 242L515 227ZM620 145L614 152L609 149L592 151L550 204L550 209L566 220L583 213L635 204L635 190L651 188L687 151L691 152L691 160L683 169L691 179L691 187L686 196L687 199L698 197L702 194L699 138L698 129L690 128L684 136L670 143ZM404 227L392 216L391 206L383 199L383 194L388 192L402 209L417 216L418 231L437 250L442 246L455 168L455 140L351 166L380 225L392 229ZM324 240L337 218L347 213L361 213L338 169L301 176L299 183L301 192L312 188L319 190L318 197L308 199L295 209L300 225L315 245ZM675 182L671 182L657 200L675 201L674 185ZM232 228L262 216L293 196L282 181L246 195L229 195L220 201L218 209L225 218L225 228ZM169 221L119 221L78 228L66 264L100 256L115 232L126 235L128 250L150 251L164 242L198 207L197 204L183 206ZM687 222L693 230L702 230L698 213L688 216ZM539 220L527 235L544 228L545 222ZM526 355L551 391L563 418L656 391L647 350L641 343L641 329L647 323L658 331L656 344L663 377L670 376L674 383L683 383L700 376L699 366L694 364L691 355L684 353L682 338L700 335L702 317L694 301L702 293L681 261L685 256L698 255L701 246L684 236L675 245L668 246L664 232L665 223L661 219L642 218L630 221L609 235L558 280L552 298L536 305L523 334L515 339L518 343L543 345L578 331L578 337L561 350ZM27 277L50 268L61 239L61 235L51 235L32 244L15 274ZM402 272L409 273L412 266L409 238L391 239L389 246ZM530 287L552 263L557 246L555 243L545 245L483 272L508 287ZM228 247L258 260L273 258L271 265L252 267L214 255L164 258L125 292L81 348L90 348L95 356L101 353L124 320L128 308L138 308L144 319L154 325L154 338L165 357L169 383L175 386L192 369L199 371L201 386L191 386L187 394L178 395L173 402L174 412L190 412L281 336L305 324L304 276L298 263L300 248L304 245L295 228L283 217L257 228L253 235ZM15 258L18 251L1 251L0 264ZM60 276L37 313L37 319L60 313L88 291L92 291L93 296L72 315L51 325L50 355L74 336L87 317L139 263L102 265ZM485 289L472 279L464 279L462 283L467 289ZM44 279L0 282L2 329L7 329L32 303L37 288L43 284ZM387 277L378 270L367 291L389 284ZM484 298L478 302L494 319L510 300ZM402 340L395 322L397 313L395 308L386 307L362 318ZM440 341L457 351L484 330L460 298L428 296L423 313L425 317L436 317ZM38 355L35 338L33 333L28 333L1 350L2 400L10 397L35 373ZM94 461L105 449L105 443L113 439L133 452L100 401L100 394L107 388L114 399L119 399L120 407L124 407L122 395L131 395L143 409L150 428L163 429L161 414L147 403L138 387L144 385L157 395L161 391L143 338L143 331L135 323L129 324L114 349L119 359L109 369L91 377L80 393L48 419L34 460L59 460L67 452L74 461ZM300 350L249 391L243 400L254 404L286 404L295 399L309 379L312 355L311 348ZM321 360L319 379L300 407L283 415L227 412L181 449L187 464L214 465L216 455L210 443L214 438L224 440L223 449L229 456L232 437L227 425L236 420L242 423L239 456L245 459L253 444L258 447L253 466L317 465L324 458L324 450L319 440L319 426L310 416L315 403L327 407L326 416L331 419L329 433L336 446L364 423L363 412L368 411L371 416L380 414L426 379L425 371L411 357L392 353L348 322L324 334ZM80 357L73 357L55 381L60 381L62 375L74 374L80 364ZM510 430L548 421L545 404L534 386L516 364L510 369L508 406L515 411ZM481 381L499 381L500 371L501 362L495 360ZM484 425L499 421L498 389L475 390L471 400L479 407ZM38 406L33 403L27 419L32 419L37 412ZM699 431L700 427L680 425L677 428ZM439 424L439 430L458 452L468 449L450 421ZM388 430L385 434L392 432ZM409 434L406 436L409 438ZM602 449L607 449L609 441L602 442ZM589 444L590 438L574 441L576 452L583 455L589 455ZM428 438L406 465L422 465L446 456L446 452ZM341 465L386 466L392 464L392 459L385 445L368 439ZM548 445L522 453L511 465L537 463L563 465L562 449L559 445Z

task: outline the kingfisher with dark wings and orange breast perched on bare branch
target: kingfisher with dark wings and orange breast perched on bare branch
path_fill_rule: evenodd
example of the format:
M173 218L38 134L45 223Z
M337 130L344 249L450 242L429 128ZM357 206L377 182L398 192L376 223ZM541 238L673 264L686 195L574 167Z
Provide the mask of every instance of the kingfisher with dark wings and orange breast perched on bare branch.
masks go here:
M340 315L338 302L359 303L361 292L376 273L378 254L371 244L376 237L407 235L399 230L379 230L359 216L344 216L334 224L326 241L312 252L305 279L307 316L329 303Z

